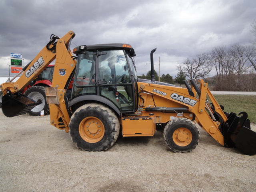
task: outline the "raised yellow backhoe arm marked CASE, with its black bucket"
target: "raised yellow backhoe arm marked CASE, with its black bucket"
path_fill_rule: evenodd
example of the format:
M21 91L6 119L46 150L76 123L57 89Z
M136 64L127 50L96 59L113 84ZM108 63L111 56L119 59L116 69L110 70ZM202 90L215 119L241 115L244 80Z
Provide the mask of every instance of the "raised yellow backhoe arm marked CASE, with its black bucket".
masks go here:
M70 51L70 43L74 36L73 31L69 31L62 38L52 35L48 44L22 69L22 75L16 82L6 82L0 85L0 90L4 95L2 98L4 115L13 117L26 114L40 104L20 92L55 59L52 87L64 89L67 79L76 66L76 60L72 59L73 54Z

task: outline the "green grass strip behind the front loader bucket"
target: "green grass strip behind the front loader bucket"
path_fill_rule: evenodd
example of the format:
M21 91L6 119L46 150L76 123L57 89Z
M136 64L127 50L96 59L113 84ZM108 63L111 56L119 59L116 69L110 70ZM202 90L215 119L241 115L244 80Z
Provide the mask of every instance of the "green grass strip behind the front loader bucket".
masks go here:
M255 95L214 95L218 104L224 106L225 112L234 112L238 115L241 111L248 114L248 119L256 123L256 96Z

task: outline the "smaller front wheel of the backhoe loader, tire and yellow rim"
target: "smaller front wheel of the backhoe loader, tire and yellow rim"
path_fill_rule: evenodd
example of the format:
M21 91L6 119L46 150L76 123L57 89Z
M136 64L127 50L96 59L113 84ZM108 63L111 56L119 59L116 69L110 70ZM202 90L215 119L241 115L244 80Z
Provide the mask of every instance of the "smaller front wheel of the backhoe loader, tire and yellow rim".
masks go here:
M174 152L192 151L198 145L199 139L198 128L186 118L176 118L164 128L164 141Z

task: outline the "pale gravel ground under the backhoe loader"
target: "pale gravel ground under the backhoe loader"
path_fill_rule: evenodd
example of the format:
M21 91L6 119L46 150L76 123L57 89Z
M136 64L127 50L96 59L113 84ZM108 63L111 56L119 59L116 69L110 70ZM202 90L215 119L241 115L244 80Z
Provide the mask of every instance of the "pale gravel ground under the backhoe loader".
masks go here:
M7 118L1 111L0 124L2 192L256 191L256 155L224 148L201 128L199 145L184 154L168 150L161 132L86 152L51 126L50 116Z

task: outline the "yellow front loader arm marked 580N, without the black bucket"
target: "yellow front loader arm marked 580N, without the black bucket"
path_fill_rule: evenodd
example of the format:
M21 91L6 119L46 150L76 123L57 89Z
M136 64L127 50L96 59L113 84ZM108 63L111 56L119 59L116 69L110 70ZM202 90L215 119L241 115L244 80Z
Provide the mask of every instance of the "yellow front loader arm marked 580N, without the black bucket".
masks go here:
M194 96L190 96L188 94L188 90L186 88L175 88L161 85L146 85L141 84L140 88L143 91L149 92L152 95L156 95L157 97L162 97L161 100L164 102L161 104L160 99L154 99L154 103L156 106L167 106L170 108L175 106L175 110L177 111L179 108L186 108L188 112L193 113L196 116L195 121L206 131L208 132L217 142L219 142L222 146L224 146L224 137L219 130L220 122L213 121L210 115L205 111L206 107L206 91L207 89L202 90L201 98L196 98ZM207 88L207 87L206 87ZM156 91L157 90L157 91ZM164 94L161 94L164 93ZM156 98L154 96L154 98ZM168 99L169 106L166 101ZM216 104L218 104L216 102ZM166 115L168 116L168 115ZM168 119L168 118L166 118ZM166 122L164 122L166 123Z

